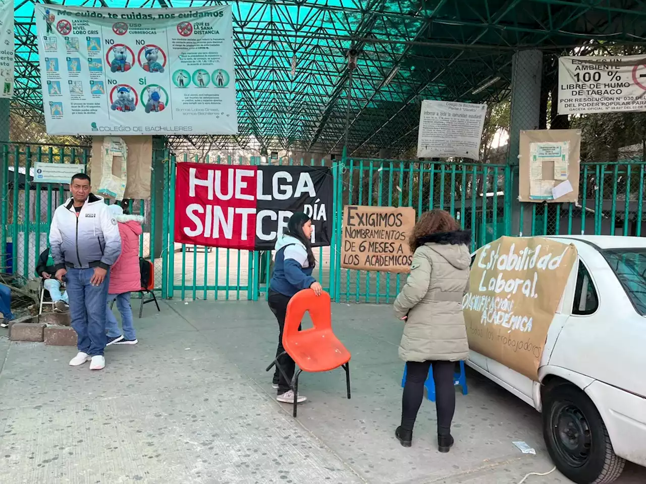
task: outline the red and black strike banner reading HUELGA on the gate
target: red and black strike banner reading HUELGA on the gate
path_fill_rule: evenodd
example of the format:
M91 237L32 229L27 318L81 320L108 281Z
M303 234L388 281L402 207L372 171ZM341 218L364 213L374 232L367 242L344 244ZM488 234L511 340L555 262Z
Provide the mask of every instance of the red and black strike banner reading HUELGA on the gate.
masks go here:
M312 245L329 246L332 175L326 167L177 163L175 242L273 249L295 212L312 219Z

